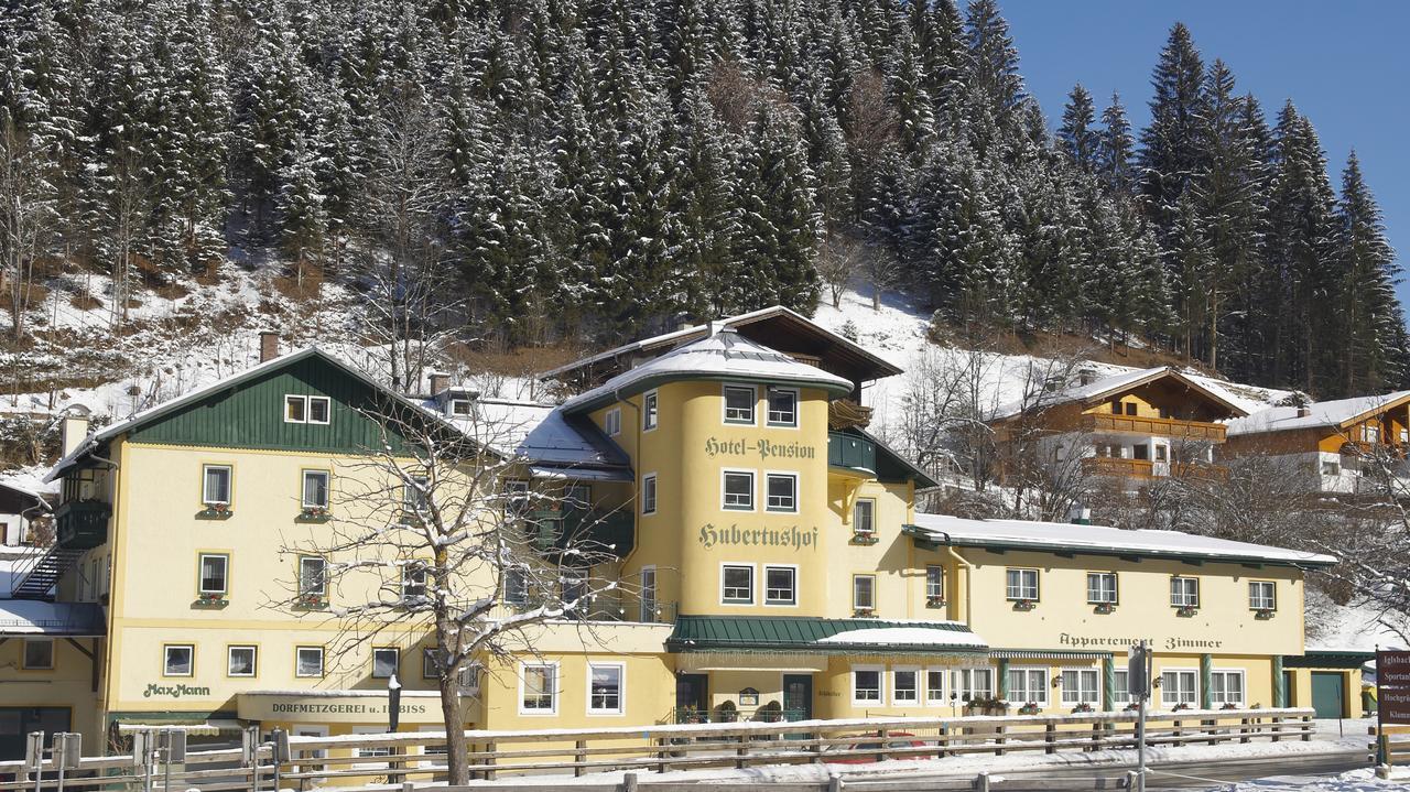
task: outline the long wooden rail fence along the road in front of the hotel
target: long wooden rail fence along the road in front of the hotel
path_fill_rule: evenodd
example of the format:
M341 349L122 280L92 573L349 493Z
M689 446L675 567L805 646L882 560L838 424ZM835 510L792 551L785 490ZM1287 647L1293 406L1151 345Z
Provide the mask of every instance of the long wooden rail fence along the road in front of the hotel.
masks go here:
M1255 740L1311 740L1311 709L1158 712L1148 716L1151 745L1217 745ZM605 771L667 772L766 764L870 762L1019 751L1129 750L1134 712L1032 716L876 717L797 723L681 724L595 730L467 731L472 775L587 775ZM314 782L361 786L444 779L444 734L396 733L290 737L290 760L274 764L259 747L247 767L243 751L192 751L182 765L140 767L133 757L85 758L66 771L65 789L128 784L142 789L306 789ZM0 791L58 789L45 760L35 779L24 762L0 762ZM812 788L816 788L814 785Z

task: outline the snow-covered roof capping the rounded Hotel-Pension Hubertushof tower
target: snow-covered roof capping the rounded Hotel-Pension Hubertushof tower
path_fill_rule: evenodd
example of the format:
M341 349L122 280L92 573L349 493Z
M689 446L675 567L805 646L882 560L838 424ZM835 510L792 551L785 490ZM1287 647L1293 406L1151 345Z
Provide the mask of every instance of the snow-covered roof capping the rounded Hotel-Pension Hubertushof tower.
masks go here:
M568 413L581 413L615 402L618 395L639 393L673 379L737 379L812 385L850 393L852 382L821 368L756 344L733 328L723 327L699 341L622 372L605 383L563 403Z

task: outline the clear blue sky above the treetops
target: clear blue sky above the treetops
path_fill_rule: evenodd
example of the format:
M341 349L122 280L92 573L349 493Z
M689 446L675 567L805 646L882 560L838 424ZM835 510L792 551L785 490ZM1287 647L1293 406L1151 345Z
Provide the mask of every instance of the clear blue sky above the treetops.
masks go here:
M1206 65L1222 58L1272 124L1286 99L1311 118L1332 186L1355 148L1410 264L1410 3L1400 0L1000 0L1024 80L1053 127L1074 83L1097 114L1111 92L1135 127L1149 120L1151 70L1183 21ZM1410 283L1399 287L1410 304Z

